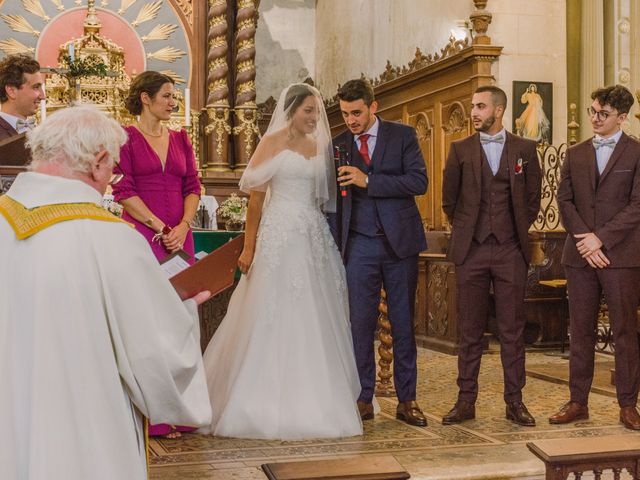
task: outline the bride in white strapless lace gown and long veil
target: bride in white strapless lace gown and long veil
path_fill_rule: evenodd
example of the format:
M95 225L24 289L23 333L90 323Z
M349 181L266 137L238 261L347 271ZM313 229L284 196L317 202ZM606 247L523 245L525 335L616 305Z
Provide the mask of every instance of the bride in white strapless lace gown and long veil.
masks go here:
M209 432L360 435L345 272L323 215L335 208L331 138L315 88L283 91L240 188L251 192L246 275L204 354Z

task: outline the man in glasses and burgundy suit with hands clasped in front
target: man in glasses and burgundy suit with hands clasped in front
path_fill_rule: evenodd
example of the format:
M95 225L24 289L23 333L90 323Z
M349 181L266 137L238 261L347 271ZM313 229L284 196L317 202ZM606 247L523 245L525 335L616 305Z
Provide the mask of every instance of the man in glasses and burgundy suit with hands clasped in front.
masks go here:
M620 421L640 430L636 311L640 290L640 144L621 130L633 95L621 85L591 94L593 138L571 147L558 206L567 240L562 254L571 313L571 398L550 423L589 418L595 325L604 292L615 341Z

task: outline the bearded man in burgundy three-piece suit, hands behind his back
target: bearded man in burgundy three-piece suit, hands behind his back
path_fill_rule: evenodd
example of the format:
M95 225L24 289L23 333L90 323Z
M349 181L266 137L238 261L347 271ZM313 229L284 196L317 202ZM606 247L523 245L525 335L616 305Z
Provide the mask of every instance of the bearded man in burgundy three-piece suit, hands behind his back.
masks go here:
M533 426L522 402L525 384L524 294L528 230L540 208L536 144L502 125L507 96L495 86L476 90L471 119L478 133L454 142L444 170L442 209L452 225L448 258L458 287L458 400L442 423L475 418L478 372L493 284L506 418Z

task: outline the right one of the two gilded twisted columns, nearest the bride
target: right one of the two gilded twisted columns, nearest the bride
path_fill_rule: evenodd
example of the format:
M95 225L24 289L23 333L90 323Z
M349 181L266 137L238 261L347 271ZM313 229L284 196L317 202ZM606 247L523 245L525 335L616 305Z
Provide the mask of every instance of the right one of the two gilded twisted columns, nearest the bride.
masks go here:
M258 107L256 105L256 24L258 0L238 0L236 17L235 168L243 170L256 148Z

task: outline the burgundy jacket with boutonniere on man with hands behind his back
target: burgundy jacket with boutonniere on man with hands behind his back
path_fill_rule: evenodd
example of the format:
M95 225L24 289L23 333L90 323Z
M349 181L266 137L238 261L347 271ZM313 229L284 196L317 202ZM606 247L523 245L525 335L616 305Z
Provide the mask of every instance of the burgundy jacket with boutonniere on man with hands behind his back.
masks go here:
M507 156L511 205L522 254L528 263L528 231L540 210L541 177L536 143L507 132L502 154ZM464 263L478 221L482 159L480 135L475 133L451 144L444 169L442 209L452 225L447 257L456 265Z

